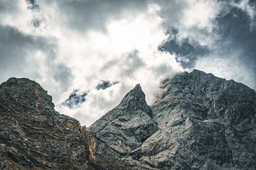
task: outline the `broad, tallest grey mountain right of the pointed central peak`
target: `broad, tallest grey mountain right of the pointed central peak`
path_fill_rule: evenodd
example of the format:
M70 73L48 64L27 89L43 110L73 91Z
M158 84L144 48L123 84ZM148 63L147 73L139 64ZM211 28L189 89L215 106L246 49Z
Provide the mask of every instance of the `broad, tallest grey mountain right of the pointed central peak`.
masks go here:
M129 166L139 169L254 169L255 150L247 149L256 141L252 135L256 132L254 90L199 70L176 74L163 81L161 89L151 105L157 128L122 157L124 162L133 162ZM232 135L239 130L251 137L246 142L242 141L246 136L238 137L242 145L233 144ZM104 135L97 138L102 140ZM106 145L113 141L114 137ZM241 150L235 149L238 146ZM182 159L184 154L187 161Z

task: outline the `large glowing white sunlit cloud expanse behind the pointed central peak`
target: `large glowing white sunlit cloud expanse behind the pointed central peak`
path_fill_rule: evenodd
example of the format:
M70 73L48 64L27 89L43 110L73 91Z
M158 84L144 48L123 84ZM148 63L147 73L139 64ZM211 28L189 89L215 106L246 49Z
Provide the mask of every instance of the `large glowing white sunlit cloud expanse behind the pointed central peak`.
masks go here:
M74 116L82 124L93 123L116 106L124 94L138 83L142 84L148 103L152 103L160 79L183 71L174 57L158 51L166 35L161 26L162 18L157 14L160 8L156 4L147 4L146 10L134 10L132 4L132 10L124 10L124 15L116 17L113 16L115 13L110 13L112 16L102 21L105 22L102 28L87 27L83 31L82 26L80 29L67 26L69 18L60 6L68 8L70 15L76 12L68 6L68 1L37 2L38 8L35 9L31 8L32 4L28 8L26 1L8 4L15 7L16 11L4 15L1 21L7 26L18 28L23 35L46 40L46 45L38 45L26 56L26 62L31 63L31 66L24 68L23 72L53 95L60 113ZM133 3L137 4L137 1ZM36 26L33 23L35 19L38 21ZM95 86L102 79L119 81L119 84L98 91ZM90 91L86 102L79 108L62 106L60 103L74 89Z

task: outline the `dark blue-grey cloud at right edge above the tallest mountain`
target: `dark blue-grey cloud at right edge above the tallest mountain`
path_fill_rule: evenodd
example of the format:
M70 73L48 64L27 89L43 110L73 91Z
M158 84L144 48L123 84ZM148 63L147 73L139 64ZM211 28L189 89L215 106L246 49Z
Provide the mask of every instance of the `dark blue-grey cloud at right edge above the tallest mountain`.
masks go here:
M240 62L252 67L256 73L256 27L251 25L251 18L239 8L231 8L229 13L216 18L221 35L218 43L223 55L239 50ZM223 56L225 57L225 56Z

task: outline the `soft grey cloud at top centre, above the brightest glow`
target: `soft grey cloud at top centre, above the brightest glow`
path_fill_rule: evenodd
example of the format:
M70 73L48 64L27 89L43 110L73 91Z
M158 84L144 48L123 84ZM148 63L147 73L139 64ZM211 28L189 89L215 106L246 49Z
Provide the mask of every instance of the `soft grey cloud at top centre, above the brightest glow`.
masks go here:
M53 3L52 1L49 1ZM105 24L122 16L132 16L147 9L146 0L54 1L65 18L65 25L78 31L105 30Z

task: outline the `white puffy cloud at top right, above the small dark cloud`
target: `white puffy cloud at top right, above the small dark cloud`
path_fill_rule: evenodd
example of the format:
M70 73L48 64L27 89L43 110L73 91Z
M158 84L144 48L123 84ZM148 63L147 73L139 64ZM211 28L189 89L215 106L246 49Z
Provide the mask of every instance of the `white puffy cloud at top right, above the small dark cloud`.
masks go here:
M174 1L162 6L160 16L167 28L178 30L178 40L188 39L199 45L212 45L218 39L213 33L213 19L223 10L225 2L210 0Z

